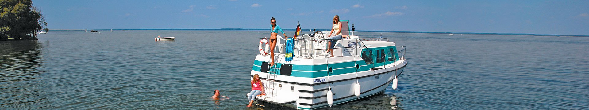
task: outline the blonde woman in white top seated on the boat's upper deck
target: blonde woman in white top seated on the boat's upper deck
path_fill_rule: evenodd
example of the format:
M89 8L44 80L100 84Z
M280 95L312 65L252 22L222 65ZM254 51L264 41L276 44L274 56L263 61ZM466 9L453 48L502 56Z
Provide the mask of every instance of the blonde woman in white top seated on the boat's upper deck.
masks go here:
M339 22L339 16L335 15L333 16L333 27L331 32L329 32L329 38L330 40L327 40L327 46L329 46L329 48L327 48L327 51L325 51L325 53L330 52L331 56L329 57L333 57L333 46L335 46L337 40L341 40L342 39L342 31L340 30L342 29L342 22Z

